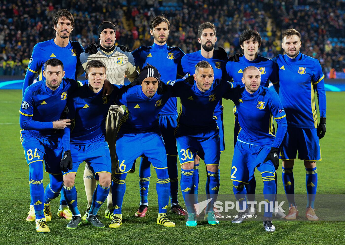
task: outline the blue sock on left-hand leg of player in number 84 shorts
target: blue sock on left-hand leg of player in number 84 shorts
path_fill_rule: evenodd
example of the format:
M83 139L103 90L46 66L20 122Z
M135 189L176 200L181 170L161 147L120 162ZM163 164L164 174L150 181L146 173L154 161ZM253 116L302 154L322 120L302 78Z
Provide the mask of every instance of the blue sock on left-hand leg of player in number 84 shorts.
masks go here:
M36 219L44 218L43 202L44 202L44 187L43 187L43 165L41 161L32 162L29 164L30 170L30 195L35 209Z

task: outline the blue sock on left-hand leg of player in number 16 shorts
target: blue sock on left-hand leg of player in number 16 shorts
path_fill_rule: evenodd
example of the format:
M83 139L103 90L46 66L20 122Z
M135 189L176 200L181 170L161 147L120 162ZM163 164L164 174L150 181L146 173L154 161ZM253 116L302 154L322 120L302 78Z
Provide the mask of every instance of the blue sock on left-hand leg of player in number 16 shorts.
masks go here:
M112 205L114 205L114 214L122 214L122 202L124 201L126 191L127 173L115 174L112 179L111 195Z

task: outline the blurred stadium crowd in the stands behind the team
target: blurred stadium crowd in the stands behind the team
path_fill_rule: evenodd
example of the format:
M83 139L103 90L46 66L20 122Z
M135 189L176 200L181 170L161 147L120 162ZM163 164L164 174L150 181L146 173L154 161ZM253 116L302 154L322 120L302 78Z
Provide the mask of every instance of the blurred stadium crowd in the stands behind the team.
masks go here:
M52 16L67 8L75 18L72 40L86 47L99 43L97 27L103 20L115 23L116 41L131 50L152 43L150 19L165 14L170 23L169 46L179 46L185 53L197 51L197 26L210 21L217 28L217 46L228 54L243 53L239 34L245 29L260 32L260 55L273 58L282 54L281 31L295 28L302 35L302 52L317 58L324 73L345 69L345 2L299 0L198 1L96 0L2 1L0 3L0 75L24 75L33 46L53 38ZM293 23L293 24L290 24Z

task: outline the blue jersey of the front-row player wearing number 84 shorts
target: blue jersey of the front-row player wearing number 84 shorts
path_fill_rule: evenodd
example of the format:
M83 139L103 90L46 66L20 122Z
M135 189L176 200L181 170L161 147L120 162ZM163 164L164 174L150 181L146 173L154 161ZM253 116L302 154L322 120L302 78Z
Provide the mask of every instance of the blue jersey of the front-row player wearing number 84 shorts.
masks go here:
M31 117L30 126L26 128L29 133L46 139L59 138L61 131L53 129L52 122L60 119L67 103L67 97L79 85L77 81L64 77L55 91L47 87L46 80L27 87L19 110L20 124L25 124L28 117Z

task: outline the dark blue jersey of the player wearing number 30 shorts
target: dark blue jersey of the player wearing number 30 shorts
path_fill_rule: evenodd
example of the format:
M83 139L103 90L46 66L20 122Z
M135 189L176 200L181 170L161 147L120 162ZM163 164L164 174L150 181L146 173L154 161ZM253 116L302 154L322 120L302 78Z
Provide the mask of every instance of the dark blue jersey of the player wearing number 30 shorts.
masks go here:
M191 85L185 79L169 82L174 96L180 97L181 110L178 115L178 126L184 125L194 132L215 129L216 119L213 117L216 106L224 93L233 86L231 83L214 79L210 89L201 92L196 82Z

